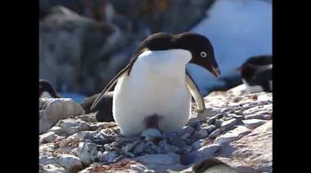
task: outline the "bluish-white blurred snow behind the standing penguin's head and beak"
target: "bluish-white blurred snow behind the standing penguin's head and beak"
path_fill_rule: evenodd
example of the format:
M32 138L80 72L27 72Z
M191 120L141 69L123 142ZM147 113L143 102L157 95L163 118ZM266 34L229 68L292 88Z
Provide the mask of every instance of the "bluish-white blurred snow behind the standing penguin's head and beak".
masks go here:
M238 75L235 70L254 55L272 54L272 3L265 0L217 0L192 32L207 36L214 47L222 77ZM195 65L187 66L201 94L224 85Z

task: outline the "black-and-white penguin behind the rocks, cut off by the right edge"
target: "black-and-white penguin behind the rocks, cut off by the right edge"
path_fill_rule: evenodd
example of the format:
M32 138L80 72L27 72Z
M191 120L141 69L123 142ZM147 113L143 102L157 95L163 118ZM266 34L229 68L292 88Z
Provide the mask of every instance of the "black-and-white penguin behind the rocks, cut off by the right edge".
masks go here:
M249 93L272 92L272 56L255 56L238 68Z

